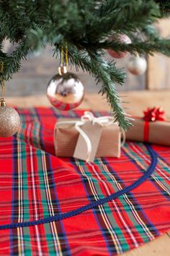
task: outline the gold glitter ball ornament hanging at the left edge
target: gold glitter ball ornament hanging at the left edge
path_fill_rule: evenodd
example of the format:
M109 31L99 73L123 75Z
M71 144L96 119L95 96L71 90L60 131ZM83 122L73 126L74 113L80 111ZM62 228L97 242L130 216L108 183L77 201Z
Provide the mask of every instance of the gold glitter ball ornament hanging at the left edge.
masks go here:
M12 137L20 126L20 118L17 111L6 106L4 98L1 98L0 105L0 137Z

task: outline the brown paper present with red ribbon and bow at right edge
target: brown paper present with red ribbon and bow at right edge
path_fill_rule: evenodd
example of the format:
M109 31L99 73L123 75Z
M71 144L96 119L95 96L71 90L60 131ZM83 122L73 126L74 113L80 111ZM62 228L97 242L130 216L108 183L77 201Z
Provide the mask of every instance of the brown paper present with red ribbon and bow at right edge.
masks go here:
M127 140L170 145L170 121L166 121L164 110L148 108L143 114L143 118L135 117L133 127L126 133Z

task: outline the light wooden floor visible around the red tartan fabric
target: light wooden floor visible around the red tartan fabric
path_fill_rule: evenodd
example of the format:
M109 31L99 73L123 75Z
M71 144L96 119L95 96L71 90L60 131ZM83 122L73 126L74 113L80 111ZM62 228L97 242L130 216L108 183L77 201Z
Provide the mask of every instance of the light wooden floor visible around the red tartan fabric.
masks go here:
M170 91L161 92L128 92L122 95L128 107L128 113L134 116L142 116L143 110L148 107L161 106L166 111L166 117L170 120ZM6 103L13 106L32 107L50 106L45 95L32 95L27 97L6 98ZM84 98L79 108L94 110L109 110L106 101L97 94L89 94ZM170 229L170 227L169 227ZM170 231L148 244L125 253L126 256L169 256L170 255Z

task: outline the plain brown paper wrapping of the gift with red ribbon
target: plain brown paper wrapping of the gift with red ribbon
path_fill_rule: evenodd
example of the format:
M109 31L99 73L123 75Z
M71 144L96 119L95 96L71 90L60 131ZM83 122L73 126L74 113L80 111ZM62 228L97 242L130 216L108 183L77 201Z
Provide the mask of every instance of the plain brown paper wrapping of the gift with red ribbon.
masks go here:
M144 127L143 119L135 118L133 127L128 129L126 133L127 140L135 140L144 142ZM150 121L148 130L148 142L159 145L170 145L170 122L169 121Z

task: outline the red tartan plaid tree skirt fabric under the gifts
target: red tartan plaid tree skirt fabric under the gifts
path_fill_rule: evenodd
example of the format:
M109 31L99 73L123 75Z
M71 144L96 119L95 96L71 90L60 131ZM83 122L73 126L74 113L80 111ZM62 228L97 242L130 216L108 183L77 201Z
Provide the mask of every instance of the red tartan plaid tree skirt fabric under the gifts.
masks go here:
M84 163L56 158L58 117L84 111L18 108L17 136L0 139L0 224L35 221L74 210L138 179L151 163L143 143L127 142L121 158ZM96 116L108 113L95 112ZM152 145L158 164L126 195L78 216L0 231L0 255L118 255L160 236L170 226L170 148Z

